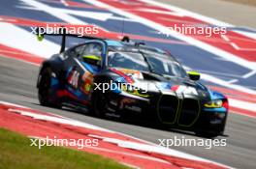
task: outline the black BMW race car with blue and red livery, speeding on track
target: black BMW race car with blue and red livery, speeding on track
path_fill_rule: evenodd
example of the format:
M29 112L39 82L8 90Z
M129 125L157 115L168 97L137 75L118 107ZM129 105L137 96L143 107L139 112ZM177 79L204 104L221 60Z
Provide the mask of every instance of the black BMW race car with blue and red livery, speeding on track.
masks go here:
M144 117L202 136L223 134L228 99L186 72L169 52L142 42L84 38L46 60L37 88L42 105L83 107L98 117ZM124 39L125 40L125 39Z

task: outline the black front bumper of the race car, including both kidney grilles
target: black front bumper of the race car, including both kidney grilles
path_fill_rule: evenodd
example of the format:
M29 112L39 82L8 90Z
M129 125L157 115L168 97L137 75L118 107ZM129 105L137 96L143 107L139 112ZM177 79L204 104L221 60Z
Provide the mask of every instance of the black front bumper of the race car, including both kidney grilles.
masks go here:
M226 109L204 108L195 96L155 93L148 99L112 93L110 110L115 113L142 114L158 122L185 129L223 132Z

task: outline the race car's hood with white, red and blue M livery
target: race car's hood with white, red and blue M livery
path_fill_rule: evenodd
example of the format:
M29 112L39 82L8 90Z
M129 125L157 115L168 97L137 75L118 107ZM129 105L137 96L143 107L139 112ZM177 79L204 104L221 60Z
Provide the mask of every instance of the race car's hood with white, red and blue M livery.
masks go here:
M127 82L127 77L132 85L148 92L173 91L176 94L194 95L210 98L208 88L198 81L190 80L189 77L163 76L147 71L115 69L123 73L126 78L118 77L117 81Z

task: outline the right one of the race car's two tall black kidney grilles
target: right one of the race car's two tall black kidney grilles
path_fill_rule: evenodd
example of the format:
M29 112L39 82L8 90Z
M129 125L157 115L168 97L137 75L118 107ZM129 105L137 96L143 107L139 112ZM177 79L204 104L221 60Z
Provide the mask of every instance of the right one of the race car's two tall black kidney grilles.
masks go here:
M197 99L183 99L178 125L190 127L192 126L200 113L200 103Z

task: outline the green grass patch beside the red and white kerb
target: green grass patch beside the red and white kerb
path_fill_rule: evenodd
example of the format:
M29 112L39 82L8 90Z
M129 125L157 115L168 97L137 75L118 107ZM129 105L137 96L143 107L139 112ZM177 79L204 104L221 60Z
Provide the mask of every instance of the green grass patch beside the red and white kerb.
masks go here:
M0 128L0 169L128 169L101 155L63 147L30 146L29 138Z

